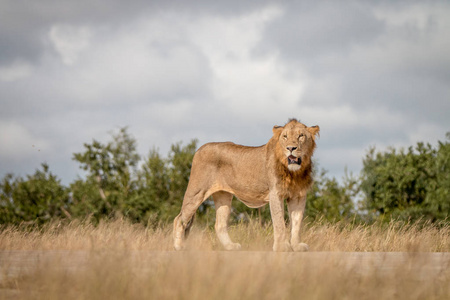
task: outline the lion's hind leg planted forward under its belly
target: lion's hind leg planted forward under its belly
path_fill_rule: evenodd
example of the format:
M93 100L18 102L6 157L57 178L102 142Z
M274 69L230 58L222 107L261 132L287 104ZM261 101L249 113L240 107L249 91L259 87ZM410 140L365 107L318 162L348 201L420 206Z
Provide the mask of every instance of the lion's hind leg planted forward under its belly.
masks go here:
M216 234L226 250L239 250L241 245L233 243L228 235L228 219L231 213L233 195L227 192L216 192L212 195L216 207Z

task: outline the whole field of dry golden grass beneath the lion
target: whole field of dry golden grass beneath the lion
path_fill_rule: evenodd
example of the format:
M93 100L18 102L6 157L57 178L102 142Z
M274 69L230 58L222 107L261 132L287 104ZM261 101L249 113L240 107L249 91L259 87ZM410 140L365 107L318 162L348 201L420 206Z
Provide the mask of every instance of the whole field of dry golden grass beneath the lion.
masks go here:
M199 225L183 252L170 226L3 227L0 299L450 299L449 226L307 223L308 253L271 252L257 222L230 235L242 251Z

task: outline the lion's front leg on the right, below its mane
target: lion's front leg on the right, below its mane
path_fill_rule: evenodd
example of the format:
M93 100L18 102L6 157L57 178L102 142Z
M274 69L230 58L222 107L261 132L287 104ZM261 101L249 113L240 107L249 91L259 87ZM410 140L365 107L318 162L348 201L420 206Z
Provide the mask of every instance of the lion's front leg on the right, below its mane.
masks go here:
M309 250L307 244L300 242L300 229L302 226L305 205L306 196L288 200L289 219L291 222L291 247L294 251Z

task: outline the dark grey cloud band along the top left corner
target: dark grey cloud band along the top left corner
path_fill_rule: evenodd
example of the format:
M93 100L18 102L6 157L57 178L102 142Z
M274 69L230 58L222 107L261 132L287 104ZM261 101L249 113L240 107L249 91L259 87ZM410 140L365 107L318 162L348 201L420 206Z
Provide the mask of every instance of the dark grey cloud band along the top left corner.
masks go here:
M55 25L109 27L115 30L137 19L152 19L172 12L194 17L245 14L265 6L267 2L271 1L44 0L25 3L2 0L0 65L12 60L38 62L46 51L48 31Z

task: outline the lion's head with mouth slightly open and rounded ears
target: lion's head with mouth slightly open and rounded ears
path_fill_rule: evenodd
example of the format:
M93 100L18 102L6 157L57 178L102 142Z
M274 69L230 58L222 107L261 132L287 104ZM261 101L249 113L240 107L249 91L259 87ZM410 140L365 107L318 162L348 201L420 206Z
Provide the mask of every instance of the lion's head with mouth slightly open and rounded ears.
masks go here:
M277 158L289 171L297 172L311 165L319 130L319 126L307 127L296 119L273 128Z

